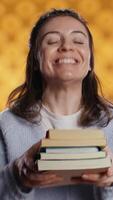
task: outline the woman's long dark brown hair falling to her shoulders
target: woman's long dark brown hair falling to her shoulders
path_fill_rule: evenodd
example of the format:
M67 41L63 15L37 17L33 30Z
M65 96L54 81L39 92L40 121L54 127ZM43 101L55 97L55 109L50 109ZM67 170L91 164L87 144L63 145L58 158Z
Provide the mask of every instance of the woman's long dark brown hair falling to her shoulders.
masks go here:
M14 114L30 122L34 122L35 117L40 116L42 96L45 88L43 84L44 79L40 72L40 63L37 58L37 41L41 28L49 20L57 16L71 16L75 18L83 24L89 37L91 71L88 72L82 83L79 124L83 127L90 126L93 123L98 123L101 127L106 126L112 118L110 109L112 105L102 95L99 95L100 83L94 72L93 38L87 22L78 13L70 9L52 9L50 12L42 15L36 22L29 40L25 81L11 92L7 105Z

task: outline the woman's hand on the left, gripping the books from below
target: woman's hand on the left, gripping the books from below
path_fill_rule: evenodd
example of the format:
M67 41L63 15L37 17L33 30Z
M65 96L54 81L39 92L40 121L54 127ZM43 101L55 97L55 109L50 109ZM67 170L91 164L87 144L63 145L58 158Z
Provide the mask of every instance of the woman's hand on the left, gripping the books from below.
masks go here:
M51 172L39 172L35 164L35 158L40 150L41 141L34 144L20 158L14 161L13 171L18 185L24 190L32 187L42 187L52 185L62 181L61 177Z

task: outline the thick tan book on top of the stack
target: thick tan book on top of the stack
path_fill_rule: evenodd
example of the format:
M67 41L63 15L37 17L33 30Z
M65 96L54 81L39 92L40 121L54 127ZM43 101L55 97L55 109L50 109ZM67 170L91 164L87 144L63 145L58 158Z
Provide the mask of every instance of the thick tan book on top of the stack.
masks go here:
M104 133L98 129L49 130L42 147L106 146Z

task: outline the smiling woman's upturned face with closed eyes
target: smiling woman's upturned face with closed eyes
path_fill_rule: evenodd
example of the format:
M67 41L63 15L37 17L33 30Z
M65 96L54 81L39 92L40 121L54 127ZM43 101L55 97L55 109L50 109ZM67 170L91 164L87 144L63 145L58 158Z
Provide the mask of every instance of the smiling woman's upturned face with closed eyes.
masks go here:
M88 33L70 16L58 16L41 29L38 59L46 81L82 81L90 70Z

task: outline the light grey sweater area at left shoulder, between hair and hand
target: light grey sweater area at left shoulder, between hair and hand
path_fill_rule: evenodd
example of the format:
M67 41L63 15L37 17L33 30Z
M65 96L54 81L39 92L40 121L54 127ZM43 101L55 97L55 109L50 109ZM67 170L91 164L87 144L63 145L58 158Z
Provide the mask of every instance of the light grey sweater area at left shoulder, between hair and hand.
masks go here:
M0 146L5 144L9 160L22 155L45 136L42 126L13 114L9 109L0 113Z

